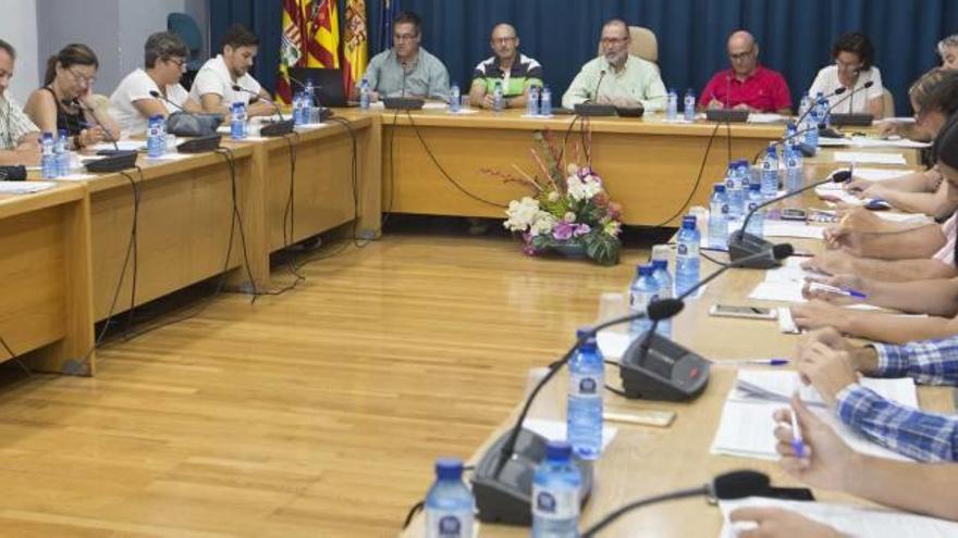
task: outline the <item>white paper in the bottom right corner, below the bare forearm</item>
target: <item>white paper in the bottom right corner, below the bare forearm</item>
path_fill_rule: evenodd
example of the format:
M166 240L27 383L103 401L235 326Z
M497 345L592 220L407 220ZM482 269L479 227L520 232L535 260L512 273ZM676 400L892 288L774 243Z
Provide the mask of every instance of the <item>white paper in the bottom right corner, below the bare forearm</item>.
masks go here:
M847 536L871 538L945 538L958 536L958 523L926 515L879 508L852 506L824 502L785 501L749 497L720 501L724 524L720 538L735 538L737 533L753 529L754 523L732 523L728 516L740 508L776 508L799 513L809 520L834 527Z

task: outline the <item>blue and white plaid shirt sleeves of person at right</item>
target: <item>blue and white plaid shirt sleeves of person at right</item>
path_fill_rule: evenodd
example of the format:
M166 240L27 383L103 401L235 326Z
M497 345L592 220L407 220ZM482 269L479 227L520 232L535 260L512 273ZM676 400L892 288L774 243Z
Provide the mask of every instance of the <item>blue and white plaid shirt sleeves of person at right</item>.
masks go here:
M874 348L877 377L907 376L925 385L958 385L958 336ZM958 416L891 402L857 384L838 393L836 412L849 426L909 458L958 461Z

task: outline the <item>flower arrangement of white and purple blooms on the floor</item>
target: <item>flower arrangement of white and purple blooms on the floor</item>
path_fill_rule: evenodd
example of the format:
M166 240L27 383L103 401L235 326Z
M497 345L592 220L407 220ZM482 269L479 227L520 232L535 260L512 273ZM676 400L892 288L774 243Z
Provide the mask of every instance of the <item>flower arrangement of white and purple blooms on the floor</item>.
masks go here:
M563 165L564 152L556 151L548 130L537 132L533 139L536 174L516 165L518 175L486 171L531 192L509 202L503 225L521 234L526 254L579 251L601 265L615 265L622 249L622 207L609 199L602 178L590 166Z

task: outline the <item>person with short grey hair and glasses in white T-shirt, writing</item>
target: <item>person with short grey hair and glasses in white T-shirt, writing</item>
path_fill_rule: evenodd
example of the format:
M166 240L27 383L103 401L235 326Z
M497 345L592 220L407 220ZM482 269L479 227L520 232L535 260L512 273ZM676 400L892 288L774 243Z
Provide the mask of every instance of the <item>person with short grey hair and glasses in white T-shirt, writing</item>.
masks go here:
M177 105L188 112L202 112L199 103L189 99L180 85L188 52L186 45L169 32L147 38L146 70L137 68L126 75L110 96L110 115L120 124L124 137L144 135L150 116L167 117L180 111ZM152 97L151 91L159 92L162 99Z

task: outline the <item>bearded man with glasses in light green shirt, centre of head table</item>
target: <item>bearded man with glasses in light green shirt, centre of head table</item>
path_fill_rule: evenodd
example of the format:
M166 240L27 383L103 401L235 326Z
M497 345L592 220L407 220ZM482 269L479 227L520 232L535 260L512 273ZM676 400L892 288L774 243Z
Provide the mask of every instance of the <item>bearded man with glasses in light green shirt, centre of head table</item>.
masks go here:
M573 109L584 102L613 104L647 112L665 109L665 85L655 64L629 54L628 25L613 18L602 27L602 55L582 66L562 105ZM604 75L603 75L604 73Z

